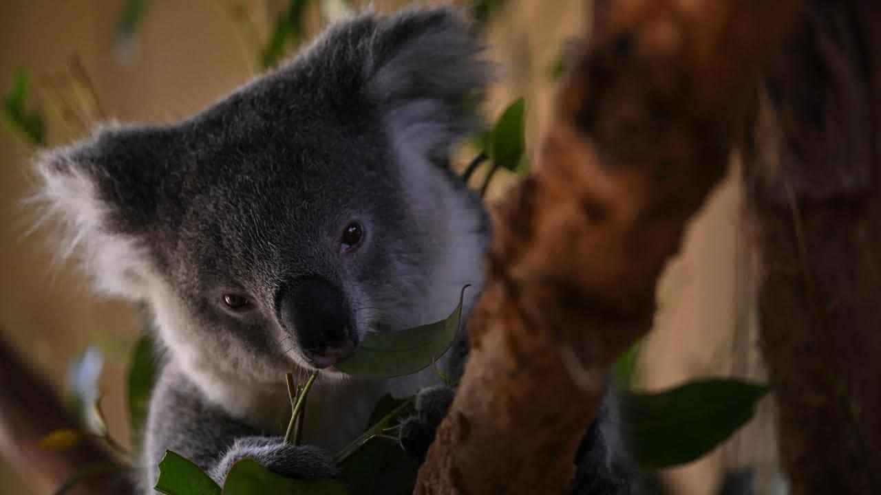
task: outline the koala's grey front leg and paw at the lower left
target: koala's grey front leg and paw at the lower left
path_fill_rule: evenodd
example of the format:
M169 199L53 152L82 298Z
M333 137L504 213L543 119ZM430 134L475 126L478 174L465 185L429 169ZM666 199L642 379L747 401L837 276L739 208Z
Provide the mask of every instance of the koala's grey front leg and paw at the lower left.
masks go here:
M254 459L286 477L332 477L336 468L317 447L286 445L280 436L260 436L254 428L209 403L185 375L169 363L159 376L144 435L142 492L152 493L157 466L167 450L181 454L223 484L233 464Z

